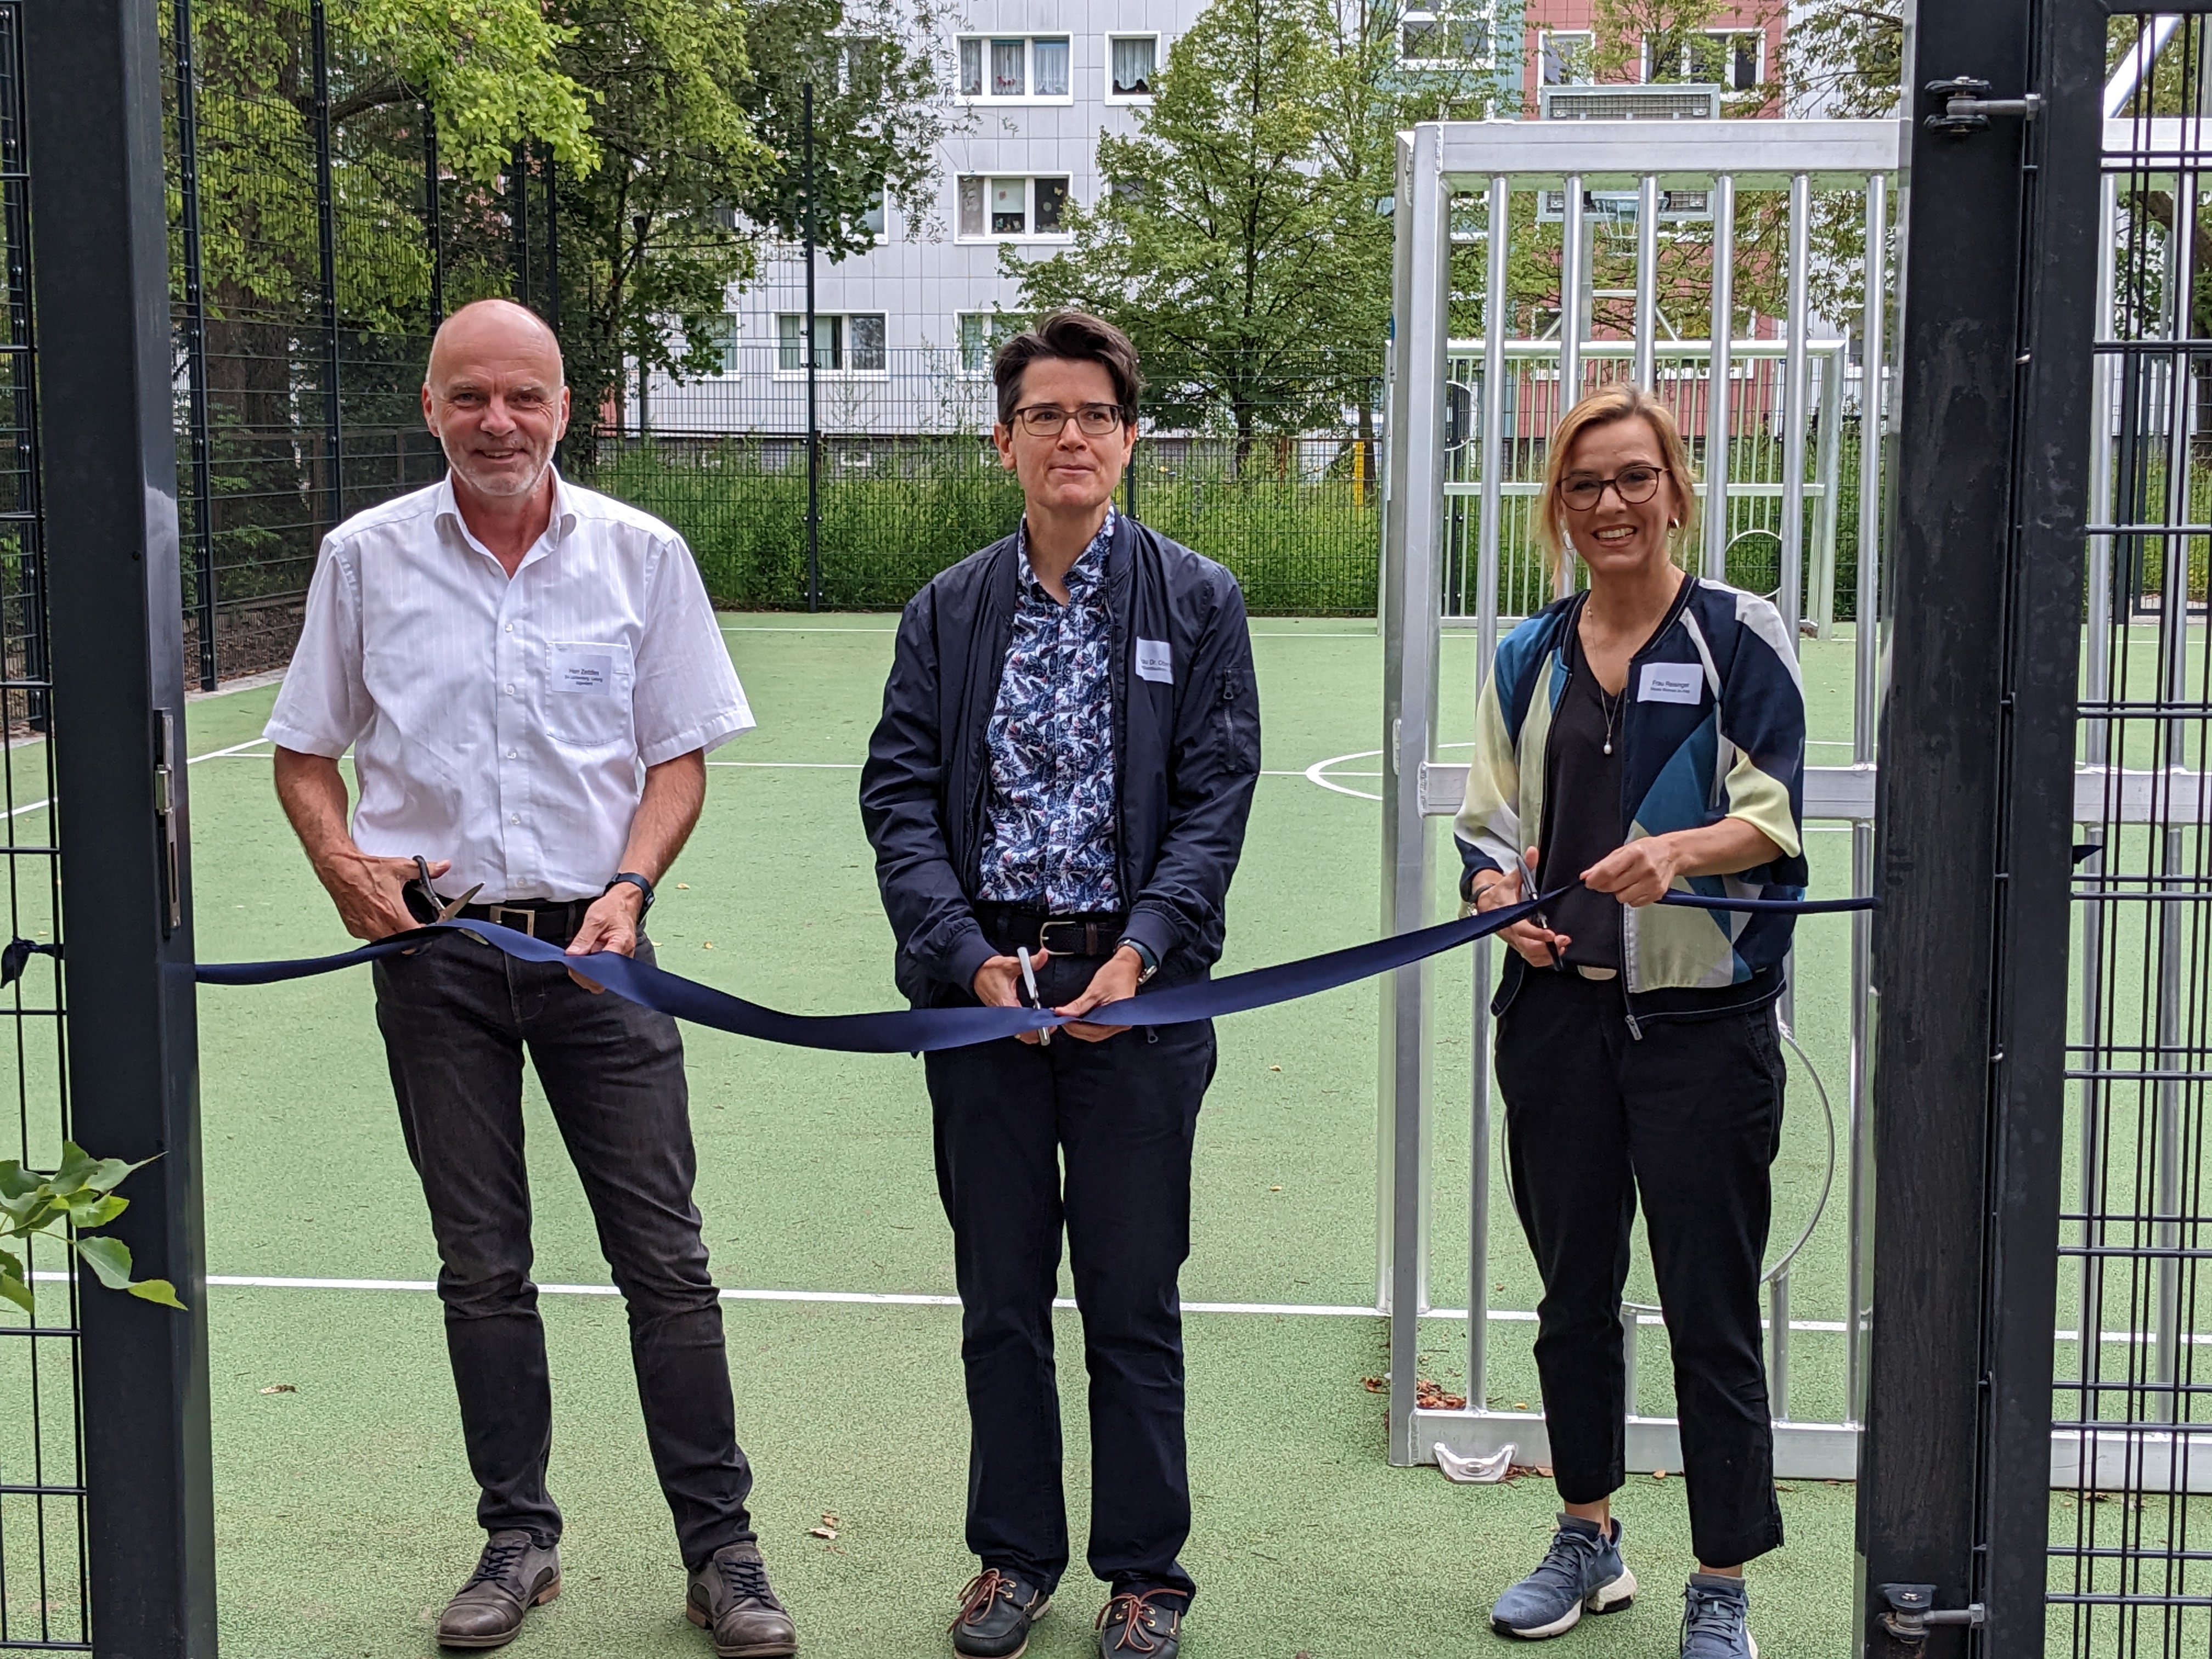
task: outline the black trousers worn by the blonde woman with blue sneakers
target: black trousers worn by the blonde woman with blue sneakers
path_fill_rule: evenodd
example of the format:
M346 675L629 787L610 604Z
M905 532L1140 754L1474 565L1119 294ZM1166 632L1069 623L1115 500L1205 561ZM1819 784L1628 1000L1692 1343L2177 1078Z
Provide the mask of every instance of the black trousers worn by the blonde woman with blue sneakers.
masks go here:
M1528 973L1498 1022L1513 1206L1544 1279L1535 1365L1559 1498L1626 1478L1621 1287L1644 1197L1674 1352L1690 1540L1705 1566L1783 1542L1759 1329L1781 1148L1774 1004L1703 1020L1624 1018L1619 980Z

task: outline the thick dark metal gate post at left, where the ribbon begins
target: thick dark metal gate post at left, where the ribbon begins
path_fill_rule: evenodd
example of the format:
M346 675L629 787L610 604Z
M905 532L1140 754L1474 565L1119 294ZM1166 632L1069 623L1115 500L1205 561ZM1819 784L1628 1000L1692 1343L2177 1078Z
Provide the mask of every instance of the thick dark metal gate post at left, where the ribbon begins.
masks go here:
M64 989L77 1139L159 1157L115 1223L179 1314L86 1283L97 1652L215 1657L208 1285L184 768L161 40L146 0L22 9L53 551ZM166 772L166 776L164 776ZM166 794L164 794L166 790Z

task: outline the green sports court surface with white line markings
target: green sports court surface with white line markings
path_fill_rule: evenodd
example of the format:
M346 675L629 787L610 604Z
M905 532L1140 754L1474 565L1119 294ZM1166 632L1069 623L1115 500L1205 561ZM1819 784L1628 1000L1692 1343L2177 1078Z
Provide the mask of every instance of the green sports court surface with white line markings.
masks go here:
M854 803L891 655L891 617L726 617L759 730L714 757L706 818L653 914L661 964L792 1011L898 1006L891 940ZM1360 622L1252 624L1265 768L1230 894L1225 969L1371 938L1378 916L1380 639ZM1849 759L1849 657L1807 641L1816 763ZM1475 641L1444 637L1444 737L1471 723ZM270 790L257 741L272 688L190 708L197 929L204 960L345 947ZM1451 750L1447 750L1451 757ZM1310 768L1334 763L1310 774ZM1318 779L1318 781L1316 781ZM1449 832L1438 825L1440 869ZM1849 883L1849 836L1809 836L1814 891ZM1447 876L1449 878L1449 876ZM1442 883L1440 883L1442 885ZM1442 900L1440 900L1442 905ZM1798 1035L1843 1106L1847 918L1801 925ZM1469 960L1436 973L1433 1298L1467 1296ZM482 1535L462 1458L422 1201L400 1148L369 975L199 993L215 1332L217 1551L228 1659L431 1652L431 1624ZM772 1048L688 1029L699 1206L723 1303L754 1513L801 1652L947 1652L967 1418L951 1239L938 1210L920 1064ZM553 1349L553 1489L566 1584L515 1655L703 1655L653 1484L622 1303L531 1086L538 1281ZM1792 1062L1776 1239L1812 1214L1827 1128ZM1548 1482L1453 1486L1389 1469L1374 1303L1376 991L1347 987L1221 1024L1197 1150L1183 1274L1201 1584L1192 1659L1498 1652L1491 1597L1542 1553ZM1792 1314L1843 1316L1845 1223L1832 1203ZM1491 1305L1535 1307L1509 1214ZM1641 1285L1641 1292L1639 1292ZM573 1292L573 1294L571 1294ZM1650 1301L1648 1270L1630 1294ZM1310 1312L1276 1312L1292 1305ZM1493 1323L1491 1400L1535 1400L1533 1325ZM1060 1316L1068 1509L1088 1493L1075 1314ZM1464 1323L1425 1325L1422 1369L1464 1378ZM1666 1347L1644 1332L1641 1402L1668 1411ZM1840 1336L1801 1332L1794 1416L1843 1405ZM1849 1648L1849 1486L1790 1482L1790 1544L1752 1568L1770 1652ZM1646 1586L1575 1652L1672 1652L1690 1568L1679 1478L1617 1498ZM827 1520L827 1517L834 1517ZM834 1531L818 1537L812 1528ZM1031 1652L1088 1652L1104 1588L1082 1562Z

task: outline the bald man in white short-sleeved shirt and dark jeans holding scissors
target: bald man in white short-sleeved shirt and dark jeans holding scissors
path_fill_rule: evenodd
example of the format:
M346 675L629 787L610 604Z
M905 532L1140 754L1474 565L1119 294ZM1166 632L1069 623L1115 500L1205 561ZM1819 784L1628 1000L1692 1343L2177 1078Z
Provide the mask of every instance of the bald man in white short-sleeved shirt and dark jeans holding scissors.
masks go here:
M453 312L431 345L422 416L445 445L445 480L323 542L265 732L276 794L356 938L467 896L462 918L571 956L653 960L644 916L699 821L706 752L752 726L699 568L672 529L553 469L568 387L535 312ZM553 1400L529 1276L526 1048L628 1301L646 1438L690 1573L686 1617L719 1659L796 1652L745 1513L752 1469L692 1203L675 1022L460 933L374 973L489 1533L438 1644L504 1646L560 1595Z

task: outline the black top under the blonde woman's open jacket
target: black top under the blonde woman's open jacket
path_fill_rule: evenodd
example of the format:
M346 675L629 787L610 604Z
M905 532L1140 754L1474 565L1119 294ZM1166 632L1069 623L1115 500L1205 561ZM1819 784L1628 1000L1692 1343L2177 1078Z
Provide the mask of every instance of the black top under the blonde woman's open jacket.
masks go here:
M1575 611L1579 624L1582 611ZM1663 624L1661 624L1663 626ZM1566 695L1551 717L1544 745L1544 825L1537 841L1540 894L1575 880L1621 845L1621 726L1628 686L1619 695L1597 684L1582 655L1579 626L1566 630ZM1610 739L1613 752L1606 752ZM1621 967L1621 902L1573 887L1551 902L1546 925L1568 936L1573 967Z

